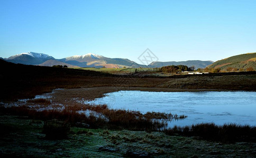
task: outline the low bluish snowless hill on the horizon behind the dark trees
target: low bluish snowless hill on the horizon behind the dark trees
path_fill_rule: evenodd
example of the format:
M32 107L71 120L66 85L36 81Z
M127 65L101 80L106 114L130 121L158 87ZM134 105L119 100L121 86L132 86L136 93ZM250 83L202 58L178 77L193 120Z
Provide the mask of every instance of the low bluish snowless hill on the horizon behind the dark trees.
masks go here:
M162 67L169 65L187 65L188 67L195 66L196 68L205 68L212 64L212 61L184 61L184 62L152 62L149 64L150 67Z

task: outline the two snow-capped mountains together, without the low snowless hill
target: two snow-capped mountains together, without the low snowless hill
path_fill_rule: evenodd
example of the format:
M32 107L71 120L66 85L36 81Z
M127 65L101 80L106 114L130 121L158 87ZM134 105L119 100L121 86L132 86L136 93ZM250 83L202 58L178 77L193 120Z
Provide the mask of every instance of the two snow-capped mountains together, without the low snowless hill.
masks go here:
M61 62L61 64L66 64L68 67L145 67L145 65L137 64L125 58L108 58L93 53L55 59L48 54L28 52L13 55L11 57L5 58L4 60L12 63L42 66L59 65Z

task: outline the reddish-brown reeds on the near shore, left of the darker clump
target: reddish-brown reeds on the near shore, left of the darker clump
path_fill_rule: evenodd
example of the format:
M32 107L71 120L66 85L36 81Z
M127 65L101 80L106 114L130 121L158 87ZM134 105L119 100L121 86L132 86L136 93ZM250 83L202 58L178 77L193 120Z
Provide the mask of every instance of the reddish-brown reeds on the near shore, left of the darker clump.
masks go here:
M102 116L95 116L93 114L87 116L79 114L77 111L90 110ZM167 121L172 119L181 119L177 115L165 113L147 113L142 114L138 111L125 111L125 110L111 110L106 105L81 105L76 104L67 106L63 111L44 110L36 111L30 110L26 106L19 107L1 107L2 113L10 113L14 115L29 116L32 119L39 120L53 120L58 119L76 126L77 122L89 124L92 128L107 128L107 129L127 129L135 131L158 131L167 126Z

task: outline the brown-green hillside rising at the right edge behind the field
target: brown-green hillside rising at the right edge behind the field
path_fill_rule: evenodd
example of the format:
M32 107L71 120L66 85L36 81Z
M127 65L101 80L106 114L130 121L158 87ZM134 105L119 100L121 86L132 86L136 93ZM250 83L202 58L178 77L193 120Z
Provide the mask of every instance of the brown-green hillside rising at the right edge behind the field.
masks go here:
M213 64L207 66L208 68L221 68L223 71L227 71L228 67L232 67L235 69L252 67L256 70L256 53L247 53L240 54L225 58L223 60L214 62Z

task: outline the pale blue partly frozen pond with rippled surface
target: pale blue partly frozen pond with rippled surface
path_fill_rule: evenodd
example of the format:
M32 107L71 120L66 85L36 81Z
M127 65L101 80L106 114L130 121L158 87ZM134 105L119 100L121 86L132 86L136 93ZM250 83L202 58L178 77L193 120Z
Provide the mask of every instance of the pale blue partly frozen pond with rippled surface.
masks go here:
M153 111L188 116L169 122L169 127L211 122L256 126L256 92L119 91L105 95L87 103L142 113Z

